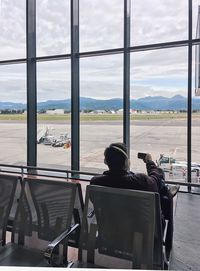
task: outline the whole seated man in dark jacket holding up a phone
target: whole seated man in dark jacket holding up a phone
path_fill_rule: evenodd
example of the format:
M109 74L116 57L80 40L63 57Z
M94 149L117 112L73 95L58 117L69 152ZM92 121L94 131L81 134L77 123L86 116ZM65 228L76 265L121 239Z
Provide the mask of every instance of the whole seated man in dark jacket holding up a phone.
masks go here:
M158 192L162 210L163 233L165 220L168 220L165 238L166 258L168 260L173 242L173 197L177 194L180 186L165 184L164 172L152 161L151 154L147 153L143 160L146 163L148 175L131 172L125 144L112 143L104 151L104 163L109 170L103 172L102 175L93 177L90 184Z

